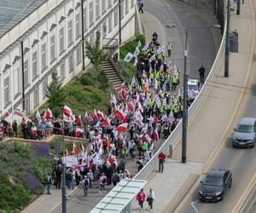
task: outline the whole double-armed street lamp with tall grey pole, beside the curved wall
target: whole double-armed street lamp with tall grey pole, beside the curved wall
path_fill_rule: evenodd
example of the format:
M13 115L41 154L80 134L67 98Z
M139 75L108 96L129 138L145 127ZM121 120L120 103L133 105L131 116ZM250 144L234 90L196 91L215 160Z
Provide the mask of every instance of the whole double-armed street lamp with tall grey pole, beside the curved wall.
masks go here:
M182 28L185 30L185 49L184 49L184 72L183 72L183 133L182 133L182 163L187 162L187 127L188 127L188 74L187 74L187 56L188 56L188 28L209 27L209 26L176 26L174 24L166 25L167 28ZM210 26L220 28L218 24Z

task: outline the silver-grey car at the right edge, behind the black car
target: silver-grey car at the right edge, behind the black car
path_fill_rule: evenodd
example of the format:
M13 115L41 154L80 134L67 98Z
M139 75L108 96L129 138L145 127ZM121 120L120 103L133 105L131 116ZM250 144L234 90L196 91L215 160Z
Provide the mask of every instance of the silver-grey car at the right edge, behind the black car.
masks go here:
M256 138L256 119L241 118L232 138L234 147L254 147Z

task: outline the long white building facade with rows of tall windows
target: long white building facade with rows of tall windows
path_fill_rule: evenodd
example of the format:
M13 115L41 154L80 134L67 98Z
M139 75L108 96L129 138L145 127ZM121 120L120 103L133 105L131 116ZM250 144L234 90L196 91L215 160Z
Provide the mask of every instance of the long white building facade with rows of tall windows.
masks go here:
M83 41L94 43L97 32L119 38L119 0L40 1L32 13L0 32L1 114L11 108L37 109L46 101L53 71L64 84L81 72L90 62L83 58ZM121 0L122 41L135 35L134 3Z

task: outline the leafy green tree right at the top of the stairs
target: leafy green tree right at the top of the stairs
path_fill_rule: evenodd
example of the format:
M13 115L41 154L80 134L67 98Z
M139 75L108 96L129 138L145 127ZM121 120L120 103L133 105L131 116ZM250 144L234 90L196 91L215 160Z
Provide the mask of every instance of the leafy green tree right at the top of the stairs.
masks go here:
M99 71L98 66L102 63L102 60L106 59L108 55L107 53L104 52L103 49L101 49L100 33L97 33L95 43L86 42L85 49L86 49L85 55L90 60L90 63L92 63L95 66L96 72L98 72ZM96 73L96 75L97 74L98 73Z

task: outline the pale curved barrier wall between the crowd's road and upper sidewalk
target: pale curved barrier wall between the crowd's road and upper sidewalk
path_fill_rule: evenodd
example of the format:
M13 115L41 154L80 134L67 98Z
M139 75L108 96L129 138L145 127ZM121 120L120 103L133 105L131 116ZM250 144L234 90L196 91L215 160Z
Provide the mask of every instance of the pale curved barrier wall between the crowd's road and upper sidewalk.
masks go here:
M224 3L225 4L225 3ZM226 14L226 13L225 13ZM226 20L226 19L225 19ZM226 21L225 21L226 26ZM226 29L226 27L224 27ZM216 76L216 72L218 72L218 67L221 62L224 60L224 53L225 53L225 33L226 30L224 30L222 41L220 43L218 54L216 55L216 58L214 60L214 63L212 65L212 69L209 72L207 76L206 83L204 83L203 87L201 88L200 93L197 95L195 101L192 103L191 107L189 107L189 120L193 118L196 115L197 110L201 107L201 104L203 101L207 98L207 94L209 90L212 87L212 80ZM154 171L155 167L158 165L158 155L160 152L167 153L169 151L169 148L174 147L175 143L177 143L178 137L181 135L182 132L182 121L180 121L175 130L172 131L172 134L169 135L169 137L166 139L164 144L160 147L160 149L154 153L153 158L151 158L146 164L142 170L140 170L136 176L134 176L134 179L147 179L148 176Z

